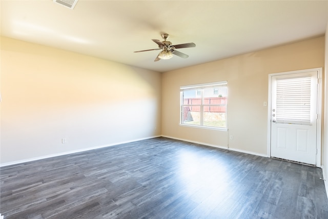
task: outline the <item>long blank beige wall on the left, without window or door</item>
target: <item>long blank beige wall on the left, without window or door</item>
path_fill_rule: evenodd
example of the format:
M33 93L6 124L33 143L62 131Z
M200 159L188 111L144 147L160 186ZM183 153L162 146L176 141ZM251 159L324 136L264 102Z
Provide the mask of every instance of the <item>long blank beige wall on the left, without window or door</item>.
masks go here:
M161 133L161 74L104 59L2 37L1 96L1 164Z

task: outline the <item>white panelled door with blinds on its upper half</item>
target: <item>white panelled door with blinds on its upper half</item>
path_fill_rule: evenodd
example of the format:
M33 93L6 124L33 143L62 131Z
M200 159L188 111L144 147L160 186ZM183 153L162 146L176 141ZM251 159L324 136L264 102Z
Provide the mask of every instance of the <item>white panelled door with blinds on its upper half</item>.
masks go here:
M316 165L318 71L271 76L271 156Z

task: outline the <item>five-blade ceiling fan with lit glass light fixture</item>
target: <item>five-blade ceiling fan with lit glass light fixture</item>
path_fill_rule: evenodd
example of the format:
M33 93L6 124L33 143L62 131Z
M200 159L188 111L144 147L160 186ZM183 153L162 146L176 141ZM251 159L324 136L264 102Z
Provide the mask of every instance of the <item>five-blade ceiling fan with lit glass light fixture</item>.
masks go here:
M135 52L146 52L146 51L151 51L151 50L162 50L161 52L158 53L157 57L155 58L154 62L159 61L160 59L170 59L174 55L177 55L181 58L188 58L189 55L179 52L176 49L181 49L181 48L189 48L189 47L195 47L196 44L194 43L187 43L187 44L178 44L178 45L172 45L170 41L166 41L167 38L169 38L169 34L163 33L161 34L162 38L164 41L160 42L158 39L152 39L157 45L158 49L147 49L147 50L140 50L140 51L135 51Z

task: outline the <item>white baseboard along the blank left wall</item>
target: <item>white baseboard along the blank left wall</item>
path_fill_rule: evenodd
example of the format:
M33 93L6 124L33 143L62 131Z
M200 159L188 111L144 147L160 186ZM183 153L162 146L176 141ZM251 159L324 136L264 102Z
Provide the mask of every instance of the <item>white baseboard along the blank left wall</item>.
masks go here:
M130 143L130 142L137 142L137 141L146 140L146 139L155 138L155 137L160 137L160 136L161 135L155 135L155 136L150 136L150 137L145 137L145 138L138 138L138 139L131 140L131 141L116 142L116 143L108 144L108 145L100 145L100 146L95 146L95 147L90 147L90 148L83 148L83 149L78 149L78 150L72 150L72 151L65 151L65 152L61 152L61 153L49 154L49 155L45 155L45 156L38 156L38 157L28 158L28 159L25 159L25 160L19 160L19 161L13 161L13 162L0 164L0 167L16 165L16 164L22 164L22 163L31 162L31 161L38 161L38 160L43 160L43 159L46 159L46 158L62 156L62 155L67 155L67 154L73 154L73 153L78 153L78 152L84 152L84 151L89 151L89 150L94 150L94 149L99 149L99 148L106 148L106 147L111 147L111 146L114 146L114 145ZM1 219L1 217L0 217L0 219Z

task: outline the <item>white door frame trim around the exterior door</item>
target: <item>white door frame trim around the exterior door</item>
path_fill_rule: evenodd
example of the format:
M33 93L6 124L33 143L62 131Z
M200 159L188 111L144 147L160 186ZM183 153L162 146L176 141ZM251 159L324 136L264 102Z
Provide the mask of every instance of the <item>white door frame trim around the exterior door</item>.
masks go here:
M318 72L318 87L317 87L317 155L316 166L321 168L321 120L322 120L322 68L303 69L297 71L287 71L269 74L269 86L268 86L268 157L271 157L271 83L272 77L277 75L297 74L309 71Z

